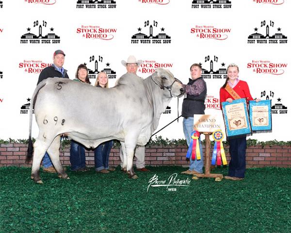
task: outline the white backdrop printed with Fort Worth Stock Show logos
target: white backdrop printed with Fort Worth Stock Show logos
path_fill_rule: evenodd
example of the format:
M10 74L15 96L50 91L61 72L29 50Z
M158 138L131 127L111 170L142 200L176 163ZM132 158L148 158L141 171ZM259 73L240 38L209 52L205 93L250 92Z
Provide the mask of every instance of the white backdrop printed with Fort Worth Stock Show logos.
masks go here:
M28 138L29 114L23 108L30 103L27 99L32 96L39 72L52 63L53 51L61 49L65 51L64 67L71 79L79 64L86 63L94 70L96 61L98 71L111 68L119 78L126 72L121 60L134 55L144 61L139 76L146 78L154 67L162 66L187 83L190 66L201 63L205 72L210 73L204 76L210 77L205 79L209 96L206 114L217 114L221 120L217 101L219 88L225 79L215 78L215 71L222 69L224 72L228 64L236 63L240 67L239 78L249 84L254 98L269 98L272 105L282 104L285 108L272 114L273 133L257 134L251 138L259 141L290 140L289 1L224 0L229 2L225 4L219 0L200 0L209 4L195 4L197 1L193 0L115 0L113 4L78 2L2 0L0 3L0 139ZM96 8L86 8L86 5ZM40 44L21 38L27 33L39 36L40 26L42 38L35 39ZM156 44L154 39L146 39L151 42L146 44L141 40L132 43L135 34L149 36L151 26L153 36L165 33L166 41L170 43ZM88 29L91 32L82 33ZM60 38L45 39L49 33ZM280 39L272 39L276 33ZM260 39L252 39L253 36L260 36ZM266 36L268 38L263 38ZM27 43L23 43L26 40ZM266 44L259 43L264 40ZM42 41L50 43L43 44ZM109 80L109 86L114 85L116 78ZM91 82L94 84L95 80ZM179 102L180 114L182 99ZM167 114L162 115L158 129L177 117L177 99L171 101L169 108ZM32 132L36 137L38 128L35 122ZM169 139L183 138L182 118L158 135Z

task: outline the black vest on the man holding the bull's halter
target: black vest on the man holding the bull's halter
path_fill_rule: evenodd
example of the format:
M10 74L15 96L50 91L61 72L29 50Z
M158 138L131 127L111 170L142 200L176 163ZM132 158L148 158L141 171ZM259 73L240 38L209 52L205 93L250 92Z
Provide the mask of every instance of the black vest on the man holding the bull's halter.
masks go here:
M184 117L193 117L194 114L204 114L204 102L207 96L206 82L203 80L203 78L200 77L195 80L189 79L189 83L187 85L193 85L198 80L203 81L205 89L200 93L199 96L191 96L187 94L187 97L183 100L182 105L182 116Z

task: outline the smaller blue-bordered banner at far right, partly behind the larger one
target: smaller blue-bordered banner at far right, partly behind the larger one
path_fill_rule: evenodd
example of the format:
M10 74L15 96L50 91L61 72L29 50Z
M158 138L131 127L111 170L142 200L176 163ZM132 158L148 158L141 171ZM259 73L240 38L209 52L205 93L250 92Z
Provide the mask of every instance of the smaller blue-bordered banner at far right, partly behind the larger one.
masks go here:
M254 100L249 102L250 123L252 131L271 131L271 100Z

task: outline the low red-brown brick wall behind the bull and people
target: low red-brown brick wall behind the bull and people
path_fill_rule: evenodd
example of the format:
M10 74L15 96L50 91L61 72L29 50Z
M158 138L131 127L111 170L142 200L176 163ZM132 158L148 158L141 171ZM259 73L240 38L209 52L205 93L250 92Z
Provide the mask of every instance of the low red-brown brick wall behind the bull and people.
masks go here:
M229 161L228 148L226 159ZM0 166L31 166L25 164L27 144L10 143L0 144ZM205 151L205 150L204 150ZM252 146L246 150L247 167L278 166L291 167L291 147L280 146ZM146 148L146 165L149 166L187 166L185 160L186 146L155 146ZM212 153L212 150L211 150ZM60 160L65 166L70 165L70 148L60 149ZM110 154L110 166L120 164L119 149L112 149ZM94 152L86 151L87 166L94 166Z

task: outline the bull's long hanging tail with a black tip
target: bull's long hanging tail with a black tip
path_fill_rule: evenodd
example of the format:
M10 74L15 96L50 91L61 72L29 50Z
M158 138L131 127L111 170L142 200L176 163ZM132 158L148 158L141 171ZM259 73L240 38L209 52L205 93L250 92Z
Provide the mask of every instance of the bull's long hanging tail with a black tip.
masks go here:
M33 153L33 145L32 145L32 111L34 108L34 103L35 100L37 98L37 94L39 92L39 90L44 87L46 85L47 80L43 80L42 82L40 82L32 95L32 99L31 99L31 106L30 106L30 110L29 110L29 136L28 136L28 149L27 149L27 156L26 156L26 163L29 163L32 160L32 153Z

